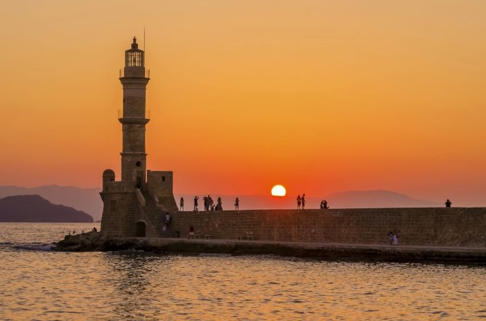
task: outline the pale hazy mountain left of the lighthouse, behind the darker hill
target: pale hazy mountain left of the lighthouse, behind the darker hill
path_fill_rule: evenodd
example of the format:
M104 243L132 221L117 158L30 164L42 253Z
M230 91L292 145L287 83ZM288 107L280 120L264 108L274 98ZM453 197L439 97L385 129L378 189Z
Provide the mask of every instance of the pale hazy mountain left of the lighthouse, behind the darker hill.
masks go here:
M13 195L37 194L54 204L62 204L91 215L95 221L101 219L103 202L101 188L79 188L73 186L40 186L33 188L0 186L0 198Z

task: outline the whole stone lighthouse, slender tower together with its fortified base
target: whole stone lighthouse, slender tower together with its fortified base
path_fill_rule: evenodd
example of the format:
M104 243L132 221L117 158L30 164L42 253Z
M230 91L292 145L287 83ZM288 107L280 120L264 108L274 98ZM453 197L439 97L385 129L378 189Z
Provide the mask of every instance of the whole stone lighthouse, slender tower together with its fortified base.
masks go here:
M146 169L145 149L146 87L149 73L145 69L144 51L134 37L125 51L125 67L120 71L123 86L121 181L112 169L103 172L103 216L101 232L116 237L159 237L162 217L176 212L173 195L173 172Z

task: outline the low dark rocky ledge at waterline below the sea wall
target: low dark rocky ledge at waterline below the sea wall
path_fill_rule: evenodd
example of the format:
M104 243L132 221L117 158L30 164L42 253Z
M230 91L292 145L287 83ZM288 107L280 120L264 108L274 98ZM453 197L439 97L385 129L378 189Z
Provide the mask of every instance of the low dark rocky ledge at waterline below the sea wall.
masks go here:
M138 250L156 254L281 255L366 262L418 262L486 266L486 248L319 244L224 239L104 237L100 232L67 235L53 247L66 252Z

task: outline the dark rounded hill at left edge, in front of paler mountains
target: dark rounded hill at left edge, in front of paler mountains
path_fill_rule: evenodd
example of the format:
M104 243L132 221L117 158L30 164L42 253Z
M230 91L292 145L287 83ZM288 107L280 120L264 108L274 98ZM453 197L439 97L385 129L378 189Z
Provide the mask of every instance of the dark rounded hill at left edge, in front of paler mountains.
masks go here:
M93 218L85 212L55 205L39 195L17 195L0 199L0 221L89 223Z

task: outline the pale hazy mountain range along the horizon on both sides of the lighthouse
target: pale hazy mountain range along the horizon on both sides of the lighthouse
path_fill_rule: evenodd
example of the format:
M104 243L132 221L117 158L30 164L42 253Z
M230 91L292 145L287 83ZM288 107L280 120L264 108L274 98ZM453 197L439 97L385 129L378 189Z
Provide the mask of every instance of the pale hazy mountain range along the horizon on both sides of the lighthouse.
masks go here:
M12 195L38 194L55 204L62 204L77 210L82 210L90 214L95 221L101 219L103 212L103 202L99 192L101 188L79 188L73 186L40 186L34 188L17 187L17 186L0 186L0 198ZM179 204L180 197L184 197L184 210L193 209L194 194L175 194L175 201ZM202 196L198 195L199 208L204 209ZM231 210L234 208L234 199L236 195L218 195L211 194L216 202L218 196L223 201L223 209ZM266 195L238 195L240 199L241 210L257 209L285 209L296 208L295 198L297 195L286 197L275 197ZM320 201L325 199L330 208L425 208L441 207L443 203L426 201L421 199L412 199L405 194L390 192L385 190L370 191L347 191L329 194L322 197L307 196L307 208L319 208Z

